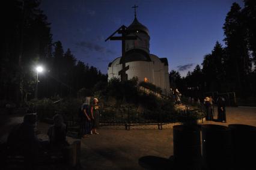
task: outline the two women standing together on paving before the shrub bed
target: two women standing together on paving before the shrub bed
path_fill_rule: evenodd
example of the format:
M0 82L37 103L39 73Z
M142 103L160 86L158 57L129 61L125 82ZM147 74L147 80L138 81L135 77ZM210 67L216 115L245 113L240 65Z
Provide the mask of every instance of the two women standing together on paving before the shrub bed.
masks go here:
M86 97L81 106L81 138L87 138L88 135L99 134L97 132L100 124L100 106L98 105L99 100L97 98L94 98L93 104L90 105L90 99L91 97Z

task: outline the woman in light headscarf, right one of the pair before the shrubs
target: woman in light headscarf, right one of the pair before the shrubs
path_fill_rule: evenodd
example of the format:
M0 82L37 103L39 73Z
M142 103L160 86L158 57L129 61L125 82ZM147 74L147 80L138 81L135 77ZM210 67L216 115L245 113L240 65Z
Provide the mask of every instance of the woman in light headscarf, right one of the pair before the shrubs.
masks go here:
M92 132L96 135L99 133L97 132L97 128L100 126L100 113L99 113L99 108L100 106L98 105L99 100L97 98L93 99L93 105L91 106L91 117L93 118L93 127L92 127Z

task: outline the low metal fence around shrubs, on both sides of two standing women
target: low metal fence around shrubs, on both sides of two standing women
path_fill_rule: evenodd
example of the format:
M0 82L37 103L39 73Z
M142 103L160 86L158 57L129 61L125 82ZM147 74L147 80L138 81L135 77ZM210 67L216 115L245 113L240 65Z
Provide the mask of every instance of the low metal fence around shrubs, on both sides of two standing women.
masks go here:
M64 117L67 127L70 129L79 126L78 113L59 113L54 109L37 110L38 120L53 123L52 117L55 114L61 114ZM131 126L158 126L162 129L162 125L168 123L177 123L192 120L201 120L205 117L202 108L185 106L180 111L162 111L162 112L137 112L134 109L121 109L113 111L100 110L100 126L124 126L126 130L130 130Z

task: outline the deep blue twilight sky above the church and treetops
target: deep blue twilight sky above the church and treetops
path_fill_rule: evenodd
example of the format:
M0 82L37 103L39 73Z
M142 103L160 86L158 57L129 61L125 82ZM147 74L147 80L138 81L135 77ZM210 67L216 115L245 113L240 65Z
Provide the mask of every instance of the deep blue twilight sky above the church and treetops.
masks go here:
M108 63L121 56L121 41L104 41L121 25L137 18L150 31L150 53L166 57L169 71L181 76L194 69L222 44L222 26L233 2L242 0L43 0L53 41L61 41L78 60L107 73Z

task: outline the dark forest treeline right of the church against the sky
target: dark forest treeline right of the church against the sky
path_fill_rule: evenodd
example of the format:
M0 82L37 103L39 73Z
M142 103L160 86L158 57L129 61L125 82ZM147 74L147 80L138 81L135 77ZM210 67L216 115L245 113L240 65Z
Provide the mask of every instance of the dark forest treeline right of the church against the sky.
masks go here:
M256 96L256 1L245 0L243 8L233 3L227 13L223 47L218 41L212 52L204 56L186 77L172 70L169 74L171 87L183 93L187 88L209 91L236 92L239 97Z

